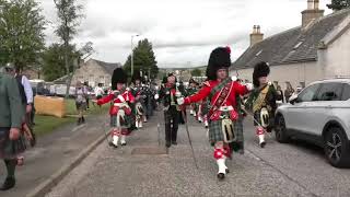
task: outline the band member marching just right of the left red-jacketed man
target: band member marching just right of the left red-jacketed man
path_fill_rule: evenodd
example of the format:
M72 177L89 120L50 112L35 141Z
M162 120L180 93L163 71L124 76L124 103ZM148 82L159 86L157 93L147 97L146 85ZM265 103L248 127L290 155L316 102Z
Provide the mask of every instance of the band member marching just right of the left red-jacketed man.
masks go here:
M136 127L142 128L142 123L147 121L145 116L145 91L142 84L142 78L140 72L135 72L132 76L133 88L131 89L132 95L136 99L135 102L135 116L136 116Z

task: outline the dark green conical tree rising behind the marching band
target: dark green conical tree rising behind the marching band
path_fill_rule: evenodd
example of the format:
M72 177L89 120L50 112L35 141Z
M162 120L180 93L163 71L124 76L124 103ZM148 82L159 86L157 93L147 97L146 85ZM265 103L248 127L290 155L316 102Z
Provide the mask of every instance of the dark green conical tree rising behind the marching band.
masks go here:
M127 61L124 65L124 69L128 76L131 76L131 55L129 55ZM138 43L138 46L133 49L133 70L142 71L145 74L150 74L151 79L156 78L159 68L153 51L152 44L148 39L142 39Z

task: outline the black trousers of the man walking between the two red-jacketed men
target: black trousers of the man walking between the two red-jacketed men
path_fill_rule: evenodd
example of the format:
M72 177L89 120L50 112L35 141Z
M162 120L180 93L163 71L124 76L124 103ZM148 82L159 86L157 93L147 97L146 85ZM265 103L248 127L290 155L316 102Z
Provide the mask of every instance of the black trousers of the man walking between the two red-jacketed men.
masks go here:
M171 106L168 111L164 112L165 118L165 141L172 142L177 140L178 123L180 112L175 106Z

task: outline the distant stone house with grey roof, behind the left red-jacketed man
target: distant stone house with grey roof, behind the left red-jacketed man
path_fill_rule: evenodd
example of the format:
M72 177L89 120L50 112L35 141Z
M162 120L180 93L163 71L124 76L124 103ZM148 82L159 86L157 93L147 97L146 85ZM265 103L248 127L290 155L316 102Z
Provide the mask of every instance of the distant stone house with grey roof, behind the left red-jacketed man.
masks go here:
M121 63L90 59L75 70L71 84L75 85L80 81L82 83L88 82L90 86L96 86L98 83L102 83L104 86L110 86L113 71L118 67L122 67Z

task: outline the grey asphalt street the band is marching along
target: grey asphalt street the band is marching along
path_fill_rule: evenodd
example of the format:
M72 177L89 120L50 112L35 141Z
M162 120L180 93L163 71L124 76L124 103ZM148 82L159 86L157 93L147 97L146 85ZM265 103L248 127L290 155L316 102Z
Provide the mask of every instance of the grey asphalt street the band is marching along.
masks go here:
M189 131L198 170L185 126L168 154L136 154L135 149L158 148L158 124L164 146L163 121L162 113L152 117L127 147L102 143L46 196L350 196L350 170L330 166L322 149L301 141L281 144L270 135L266 148L259 148L250 118L244 124L245 154L228 161L231 173L221 182L206 130L192 117Z

